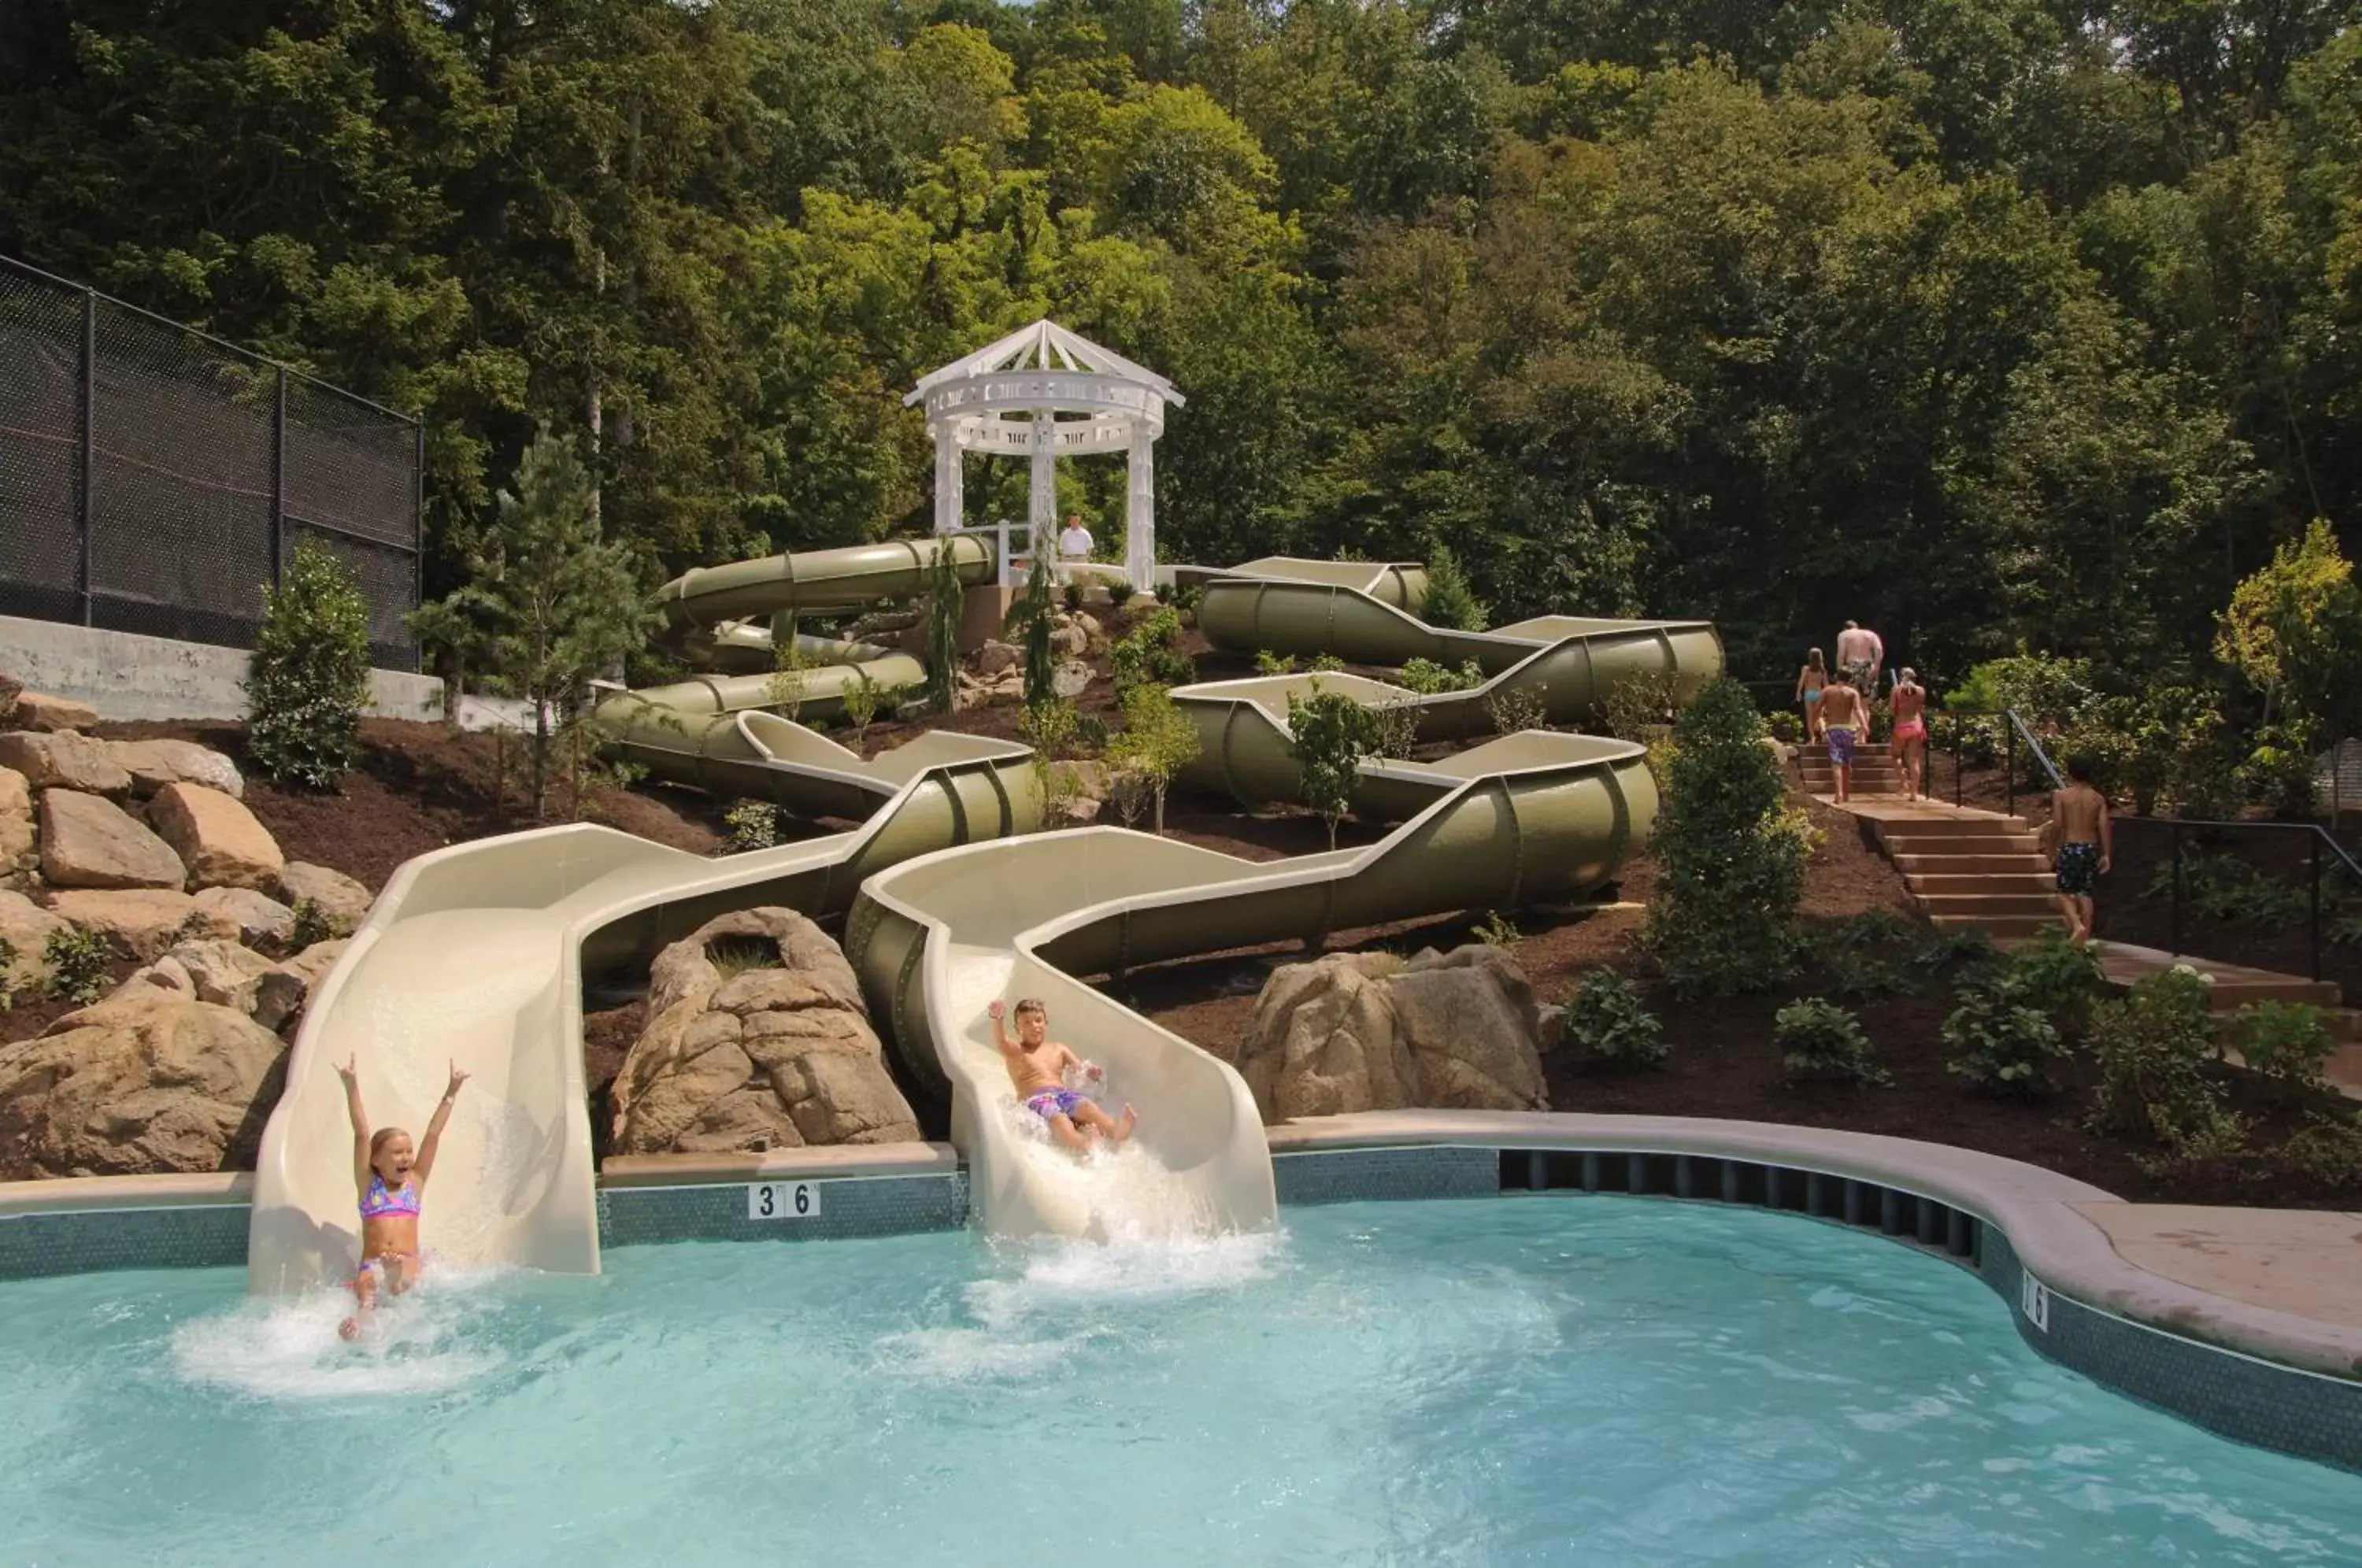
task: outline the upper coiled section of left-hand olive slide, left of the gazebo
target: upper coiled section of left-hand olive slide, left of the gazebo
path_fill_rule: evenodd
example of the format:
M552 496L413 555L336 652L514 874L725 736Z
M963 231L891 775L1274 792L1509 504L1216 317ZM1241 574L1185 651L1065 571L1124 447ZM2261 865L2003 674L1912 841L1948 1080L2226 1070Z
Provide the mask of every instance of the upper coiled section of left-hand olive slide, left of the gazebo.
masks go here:
M772 649L794 614L846 614L916 597L935 571L938 550L952 555L961 583L990 583L999 571L990 541L952 534L765 555L676 576L654 600L664 635L692 664L718 673L633 692L612 687L593 713L607 749L659 779L725 798L775 801L801 817L853 822L928 767L1030 756L1013 741L928 732L862 758L765 711L779 704L779 680L794 680L796 711L808 718L836 716L855 682L926 685L926 664L879 642L798 633L798 668L784 678L772 671Z

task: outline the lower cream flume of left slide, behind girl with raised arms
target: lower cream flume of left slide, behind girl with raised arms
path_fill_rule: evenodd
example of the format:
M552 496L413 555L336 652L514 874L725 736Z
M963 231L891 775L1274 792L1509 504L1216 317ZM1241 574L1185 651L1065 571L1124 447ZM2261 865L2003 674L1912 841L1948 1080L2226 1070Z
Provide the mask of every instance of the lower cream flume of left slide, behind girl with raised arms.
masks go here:
M976 753L916 770L860 829L808 843L706 860L605 827L555 827L404 864L305 1006L262 1133L248 1289L293 1292L354 1266L352 1129L335 1074L347 1058L371 1119L411 1136L425 1131L446 1063L475 1074L420 1221L437 1261L598 1273L583 968L645 966L730 909L834 914L883 867L1039 827L1027 749L940 739Z

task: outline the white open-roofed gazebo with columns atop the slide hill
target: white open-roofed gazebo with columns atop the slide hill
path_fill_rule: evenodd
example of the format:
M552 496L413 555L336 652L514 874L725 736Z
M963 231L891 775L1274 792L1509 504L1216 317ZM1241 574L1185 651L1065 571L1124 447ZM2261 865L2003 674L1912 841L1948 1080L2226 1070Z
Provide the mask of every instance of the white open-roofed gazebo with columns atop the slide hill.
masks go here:
M1056 550L1058 458L1122 451L1124 576L1141 593L1157 583L1157 501L1150 444L1164 435L1164 404L1183 404L1174 385L1122 354L1077 338L1056 321L1035 321L966 359L919 378L902 399L926 399L935 437L935 531L959 531L959 463L966 451L1032 458L1025 522L1032 550ZM1001 571L1009 562L1001 562Z

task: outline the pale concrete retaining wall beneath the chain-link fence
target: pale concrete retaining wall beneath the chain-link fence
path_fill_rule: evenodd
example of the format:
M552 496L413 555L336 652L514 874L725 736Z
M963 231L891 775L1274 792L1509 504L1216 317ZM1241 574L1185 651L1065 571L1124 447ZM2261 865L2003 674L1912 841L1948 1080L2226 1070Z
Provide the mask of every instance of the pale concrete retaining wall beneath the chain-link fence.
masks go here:
M243 647L0 616L0 675L87 701L99 718L246 718L246 664ZM435 675L371 671L368 694L378 718L442 718Z

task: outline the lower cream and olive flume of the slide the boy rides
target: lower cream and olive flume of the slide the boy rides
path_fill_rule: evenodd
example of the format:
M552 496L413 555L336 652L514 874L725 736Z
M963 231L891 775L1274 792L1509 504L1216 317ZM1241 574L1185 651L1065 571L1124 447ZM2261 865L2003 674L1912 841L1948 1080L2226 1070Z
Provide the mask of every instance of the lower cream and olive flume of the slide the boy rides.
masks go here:
M1424 808L1361 850L1249 862L1094 827L940 850L872 876L846 921L846 956L905 1077L950 1100L978 1221L994 1235L1268 1223L1271 1152L1245 1082L1084 978L1573 897L1646 843L1656 782L1642 746L1521 732L1488 751L1443 786L1431 770L1405 775ZM1053 1037L1108 1070L1108 1098L1138 1105L1146 1181L1094 1181L1018 1108L985 1004L1027 994L1049 1006Z

